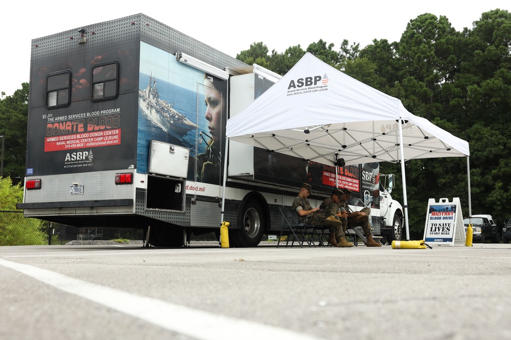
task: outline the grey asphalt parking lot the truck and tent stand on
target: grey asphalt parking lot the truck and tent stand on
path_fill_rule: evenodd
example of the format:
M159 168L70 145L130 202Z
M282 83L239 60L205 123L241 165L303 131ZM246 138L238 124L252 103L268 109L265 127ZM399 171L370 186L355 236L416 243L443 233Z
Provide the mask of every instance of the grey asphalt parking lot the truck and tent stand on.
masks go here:
M508 339L511 245L0 247L2 339Z

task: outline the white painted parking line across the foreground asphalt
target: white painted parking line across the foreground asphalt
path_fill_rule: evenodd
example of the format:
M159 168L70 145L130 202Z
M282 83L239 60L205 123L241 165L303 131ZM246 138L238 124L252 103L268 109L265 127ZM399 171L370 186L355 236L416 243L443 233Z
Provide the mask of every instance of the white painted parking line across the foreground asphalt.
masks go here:
M203 340L318 339L307 334L139 296L68 277L49 270L0 259L0 265L59 290L94 301L159 327ZM241 335L243 334L243 335Z

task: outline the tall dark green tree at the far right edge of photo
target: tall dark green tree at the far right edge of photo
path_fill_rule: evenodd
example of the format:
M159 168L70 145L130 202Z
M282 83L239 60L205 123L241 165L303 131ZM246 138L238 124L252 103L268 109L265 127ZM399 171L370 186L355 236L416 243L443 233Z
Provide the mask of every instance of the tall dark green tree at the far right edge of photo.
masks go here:
M459 49L450 117L470 142L472 212L490 213L501 225L511 189L511 13L482 13Z

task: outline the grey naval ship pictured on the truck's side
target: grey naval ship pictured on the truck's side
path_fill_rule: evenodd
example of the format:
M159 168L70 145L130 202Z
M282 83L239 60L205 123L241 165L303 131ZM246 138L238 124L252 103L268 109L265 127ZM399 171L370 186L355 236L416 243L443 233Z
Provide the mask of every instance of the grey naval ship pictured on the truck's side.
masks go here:
M174 104L159 98L156 83L156 78L152 74L149 75L147 87L144 90L138 90L138 106L154 123L181 140L187 132L195 129L197 125L174 110Z

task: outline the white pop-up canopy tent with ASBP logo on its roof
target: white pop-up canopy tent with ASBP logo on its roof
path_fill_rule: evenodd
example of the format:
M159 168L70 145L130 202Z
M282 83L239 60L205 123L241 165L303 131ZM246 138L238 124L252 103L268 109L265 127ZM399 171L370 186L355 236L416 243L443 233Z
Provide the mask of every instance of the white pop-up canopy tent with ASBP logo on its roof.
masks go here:
M412 115L399 99L310 53L245 110L228 119L226 136L329 165L341 158L345 164L401 162L407 239L404 162L467 156L468 164L470 154L468 142Z

